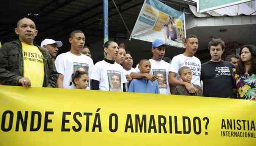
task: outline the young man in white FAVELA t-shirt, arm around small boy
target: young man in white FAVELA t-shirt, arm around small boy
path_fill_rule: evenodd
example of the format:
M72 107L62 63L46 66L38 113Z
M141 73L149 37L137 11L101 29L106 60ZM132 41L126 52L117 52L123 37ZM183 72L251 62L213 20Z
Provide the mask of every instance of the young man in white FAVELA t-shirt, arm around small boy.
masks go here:
M191 83L201 86L200 75L201 75L201 61L194 56L198 49L198 39L195 35L188 35L185 39L185 52L173 57L171 61L171 72L169 75L169 82L173 85L184 85L189 93L195 93L196 88L182 80L178 80L177 74L179 69L183 66L187 66L192 71Z

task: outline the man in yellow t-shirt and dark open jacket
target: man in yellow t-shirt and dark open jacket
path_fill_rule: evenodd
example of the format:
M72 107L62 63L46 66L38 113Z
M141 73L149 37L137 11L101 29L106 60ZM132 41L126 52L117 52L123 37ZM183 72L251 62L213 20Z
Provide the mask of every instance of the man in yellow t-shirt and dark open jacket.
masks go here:
M17 22L19 40L0 49L0 83L25 87L57 87L58 72L47 50L33 44L38 33L29 18Z

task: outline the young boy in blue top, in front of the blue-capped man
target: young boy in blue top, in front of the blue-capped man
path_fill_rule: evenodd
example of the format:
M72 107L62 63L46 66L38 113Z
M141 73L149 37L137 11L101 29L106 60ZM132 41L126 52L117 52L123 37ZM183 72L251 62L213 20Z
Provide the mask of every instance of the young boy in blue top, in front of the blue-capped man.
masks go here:
M141 74L149 74L151 70L151 64L149 60L140 60L138 68ZM157 82L151 82L146 78L133 79L128 88L128 92L140 92L140 93L156 93L159 94L159 87Z

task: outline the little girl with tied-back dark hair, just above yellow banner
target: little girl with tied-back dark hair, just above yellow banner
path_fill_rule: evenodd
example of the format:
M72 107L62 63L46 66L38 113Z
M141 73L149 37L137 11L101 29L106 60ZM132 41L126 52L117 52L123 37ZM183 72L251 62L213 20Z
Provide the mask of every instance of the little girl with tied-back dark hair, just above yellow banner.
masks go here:
M88 74L85 71L77 70L72 74L72 83L75 85L76 89L86 89L88 87Z

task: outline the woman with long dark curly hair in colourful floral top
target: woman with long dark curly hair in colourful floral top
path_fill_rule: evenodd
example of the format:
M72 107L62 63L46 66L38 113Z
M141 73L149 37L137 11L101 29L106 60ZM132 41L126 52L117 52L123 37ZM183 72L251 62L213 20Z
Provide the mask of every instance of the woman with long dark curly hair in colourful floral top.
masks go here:
M256 47L245 45L239 55L238 66L233 69L237 98L256 100Z

